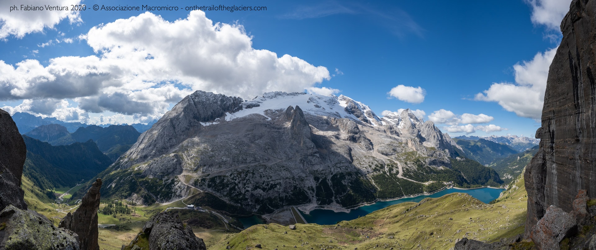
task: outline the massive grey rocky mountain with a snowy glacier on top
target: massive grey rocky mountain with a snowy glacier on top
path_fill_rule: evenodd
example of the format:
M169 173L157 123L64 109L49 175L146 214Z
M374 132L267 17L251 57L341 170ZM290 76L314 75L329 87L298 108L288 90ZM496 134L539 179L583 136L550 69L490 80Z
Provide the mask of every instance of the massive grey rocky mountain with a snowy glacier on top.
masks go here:
M244 214L504 184L458 151L408 109L380 118L344 95L268 92L243 100L196 91L98 178L103 199L151 205L202 193Z

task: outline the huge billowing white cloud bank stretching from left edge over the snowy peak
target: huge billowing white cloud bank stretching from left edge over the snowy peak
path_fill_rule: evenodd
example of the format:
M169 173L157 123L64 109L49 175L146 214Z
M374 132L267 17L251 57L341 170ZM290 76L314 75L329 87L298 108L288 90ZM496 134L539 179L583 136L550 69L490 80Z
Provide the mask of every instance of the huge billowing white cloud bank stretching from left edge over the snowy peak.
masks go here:
M243 26L213 23L203 11L176 21L147 12L93 27L79 39L97 55L51 58L47 66L0 60L0 100L66 98L77 104L69 109L117 114L104 121L151 121L198 89L245 99L269 91L339 92L318 86L331 79L326 67L256 50Z

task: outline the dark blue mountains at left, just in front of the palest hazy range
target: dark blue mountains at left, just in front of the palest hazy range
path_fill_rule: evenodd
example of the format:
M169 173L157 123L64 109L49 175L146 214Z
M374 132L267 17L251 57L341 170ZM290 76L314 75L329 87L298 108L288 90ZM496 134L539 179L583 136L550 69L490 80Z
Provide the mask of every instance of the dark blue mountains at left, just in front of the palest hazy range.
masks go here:
M122 153L130 149L132 144L141 135L131 125L110 125L101 127L88 125L79 127L72 134L60 124L41 125L25 133L25 135L41 141L46 141L52 146L69 145L94 141L101 152L105 153L111 161L116 161Z

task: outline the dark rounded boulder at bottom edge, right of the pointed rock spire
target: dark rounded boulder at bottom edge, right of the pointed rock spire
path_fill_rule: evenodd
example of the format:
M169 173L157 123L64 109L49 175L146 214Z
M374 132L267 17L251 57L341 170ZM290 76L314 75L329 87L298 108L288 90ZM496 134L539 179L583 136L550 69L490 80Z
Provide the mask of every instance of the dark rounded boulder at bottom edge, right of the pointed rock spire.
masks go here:
M122 249L138 248L136 243L147 240L151 250L204 250L207 249L203 239L194 235L190 226L182 223L178 214L175 217L160 212L151 217L145 223L142 232L139 233L129 246L122 246Z

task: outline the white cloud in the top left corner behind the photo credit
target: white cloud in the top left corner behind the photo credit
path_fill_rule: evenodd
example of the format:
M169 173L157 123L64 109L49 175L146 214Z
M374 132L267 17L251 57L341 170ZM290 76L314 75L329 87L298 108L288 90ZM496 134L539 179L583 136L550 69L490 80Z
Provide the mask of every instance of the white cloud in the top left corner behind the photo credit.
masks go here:
M23 36L42 32L44 29L53 29L54 26L64 19L68 19L70 23L77 23L82 21L80 19L79 11L46 11L44 5L52 7L67 6L70 10L70 5L78 5L80 0L47 0L44 2L36 0L8 0L2 1L0 7L0 39L7 39L8 36L16 38L23 38ZM10 7L16 5L18 10L12 10ZM27 11L21 10L22 7L43 7L43 11Z

